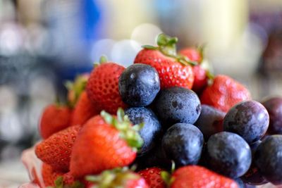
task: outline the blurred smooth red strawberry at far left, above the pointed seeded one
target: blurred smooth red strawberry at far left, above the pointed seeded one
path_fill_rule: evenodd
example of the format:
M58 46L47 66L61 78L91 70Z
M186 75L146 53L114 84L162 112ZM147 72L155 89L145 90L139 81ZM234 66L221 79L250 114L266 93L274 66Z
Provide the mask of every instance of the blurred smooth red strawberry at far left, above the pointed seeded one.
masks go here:
M39 133L47 139L60 130L68 127L71 120L71 109L68 106L51 104L44 109L39 123Z

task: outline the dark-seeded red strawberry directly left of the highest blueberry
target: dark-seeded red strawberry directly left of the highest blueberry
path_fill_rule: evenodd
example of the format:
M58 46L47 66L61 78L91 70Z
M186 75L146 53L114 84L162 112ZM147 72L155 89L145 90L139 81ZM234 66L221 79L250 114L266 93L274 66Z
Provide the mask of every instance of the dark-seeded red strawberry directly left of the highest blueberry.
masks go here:
M104 58L101 58L100 62L100 65L97 65L90 74L86 91L99 111L116 113L118 107L126 107L118 92L118 78L125 68L116 63L107 62Z

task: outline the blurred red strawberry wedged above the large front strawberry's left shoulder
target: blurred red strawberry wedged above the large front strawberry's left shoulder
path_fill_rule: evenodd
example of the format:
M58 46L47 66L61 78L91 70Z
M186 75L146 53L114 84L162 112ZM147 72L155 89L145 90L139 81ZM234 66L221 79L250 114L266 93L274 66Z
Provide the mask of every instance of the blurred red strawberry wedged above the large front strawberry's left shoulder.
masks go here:
M86 92L82 92L71 115L71 125L83 125L92 116L99 114L97 107L90 101Z

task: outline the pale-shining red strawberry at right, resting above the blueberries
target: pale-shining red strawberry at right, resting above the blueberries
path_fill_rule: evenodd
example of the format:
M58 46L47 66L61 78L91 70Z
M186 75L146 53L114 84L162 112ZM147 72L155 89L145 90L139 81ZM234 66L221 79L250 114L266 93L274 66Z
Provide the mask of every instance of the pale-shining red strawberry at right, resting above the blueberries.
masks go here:
M204 89L200 97L202 104L214 106L220 111L227 112L240 101L250 100L250 92L231 77L217 75L212 85Z

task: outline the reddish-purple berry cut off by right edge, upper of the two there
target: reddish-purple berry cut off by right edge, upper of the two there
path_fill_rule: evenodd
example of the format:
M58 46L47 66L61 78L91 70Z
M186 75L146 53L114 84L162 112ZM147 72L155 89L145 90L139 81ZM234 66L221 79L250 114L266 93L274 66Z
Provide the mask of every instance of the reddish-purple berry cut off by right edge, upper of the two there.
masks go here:
M273 97L262 103L269 112L269 134L282 134L282 98Z

